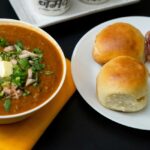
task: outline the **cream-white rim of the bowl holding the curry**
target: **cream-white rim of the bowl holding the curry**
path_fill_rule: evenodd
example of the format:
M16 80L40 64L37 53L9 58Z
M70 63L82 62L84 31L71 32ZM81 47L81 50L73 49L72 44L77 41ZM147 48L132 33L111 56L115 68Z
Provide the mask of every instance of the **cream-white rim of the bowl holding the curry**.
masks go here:
M61 77L58 87L56 88L56 90L53 92L53 94L48 99L46 99L44 102L37 105L36 107L26 110L24 112L20 112L20 113L16 113L16 114L9 114L9 115L0 115L0 119L11 119L11 118L24 117L24 116L27 116L27 115L30 115L30 114L36 112L37 110L41 109L42 107L44 107L60 91L60 89L63 86L63 83L65 81L66 71L67 71L65 55L64 55L63 50L61 49L60 45L57 43L57 41L46 31L44 31L43 29L41 29L35 25L32 25L30 23L27 23L27 22L24 22L21 20L16 20L16 19L0 19L0 24L6 24L6 25L10 24L10 25L25 27L26 29L33 30L33 31L43 35L45 38L47 38L47 40L49 40L50 42L52 42L52 44L54 44L54 46L56 47L56 49L59 52L59 55L61 57L62 66L63 66L62 77Z

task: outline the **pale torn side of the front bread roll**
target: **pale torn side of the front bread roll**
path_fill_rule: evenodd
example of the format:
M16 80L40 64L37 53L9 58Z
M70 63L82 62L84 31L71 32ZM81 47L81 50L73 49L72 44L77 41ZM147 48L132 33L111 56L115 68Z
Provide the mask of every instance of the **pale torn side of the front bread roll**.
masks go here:
M103 105L112 110L123 112L134 112L145 107L147 103L146 96L136 99L128 94L111 94L103 101Z

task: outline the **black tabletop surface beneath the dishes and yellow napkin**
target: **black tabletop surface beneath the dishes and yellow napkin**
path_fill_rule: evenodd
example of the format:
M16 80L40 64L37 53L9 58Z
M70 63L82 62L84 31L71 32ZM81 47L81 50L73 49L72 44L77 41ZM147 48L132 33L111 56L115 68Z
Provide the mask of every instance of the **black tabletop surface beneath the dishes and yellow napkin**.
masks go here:
M79 39L94 26L118 17L150 16L150 1L115 8L44 28L71 58ZM0 0L0 17L18 19L8 0ZM110 121L94 111L76 91L34 150L147 150L150 132Z

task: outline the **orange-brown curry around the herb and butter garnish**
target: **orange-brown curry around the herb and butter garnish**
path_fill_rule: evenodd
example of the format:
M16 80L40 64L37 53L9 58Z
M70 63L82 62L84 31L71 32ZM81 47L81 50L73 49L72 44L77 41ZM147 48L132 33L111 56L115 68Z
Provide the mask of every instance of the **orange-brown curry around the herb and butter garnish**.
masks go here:
M40 65L43 65L38 72L38 84L24 85L25 87L21 87L24 93L17 98L9 96L7 101L4 100L5 97L0 99L0 115L24 112L46 101L57 89L62 78L63 64L57 48L38 32L11 24L0 25L0 39L0 42L6 40L9 43L7 46L14 46L16 43L19 46L22 43L23 52L26 50L33 53L36 49L42 53ZM0 47L0 52L4 51L4 47L6 48L6 45Z

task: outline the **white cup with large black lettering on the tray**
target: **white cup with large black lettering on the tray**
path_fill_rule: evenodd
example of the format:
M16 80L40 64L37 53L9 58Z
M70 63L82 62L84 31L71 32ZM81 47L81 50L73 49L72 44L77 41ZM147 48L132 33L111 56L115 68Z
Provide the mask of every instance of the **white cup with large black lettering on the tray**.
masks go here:
M70 0L33 0L36 10L43 15L60 15L70 8Z

